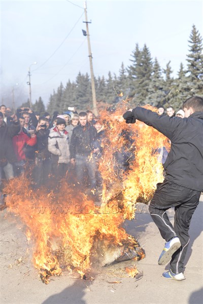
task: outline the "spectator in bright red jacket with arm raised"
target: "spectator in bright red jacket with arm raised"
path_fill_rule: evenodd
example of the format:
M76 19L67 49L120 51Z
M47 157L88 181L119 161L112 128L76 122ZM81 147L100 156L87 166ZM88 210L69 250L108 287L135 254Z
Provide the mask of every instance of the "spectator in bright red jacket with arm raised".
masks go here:
M19 176L22 174L25 170L25 163L26 163L26 156L25 156L25 146L33 146L37 143L37 136L35 135L35 131L33 130L33 133L31 134L31 137L29 137L24 132L24 124L25 119L23 117L19 118L20 122L20 132L15 135L13 140L13 147L14 152L17 158L17 162L14 163L14 176Z

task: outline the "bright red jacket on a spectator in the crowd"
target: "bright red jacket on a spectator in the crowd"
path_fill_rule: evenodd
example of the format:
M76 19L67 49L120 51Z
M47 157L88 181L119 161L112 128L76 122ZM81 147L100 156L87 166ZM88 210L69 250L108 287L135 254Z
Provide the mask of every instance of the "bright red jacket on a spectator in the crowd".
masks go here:
M17 161L25 160L25 144L33 146L37 143L37 137L29 137L23 131L18 133L12 138L14 151L17 157Z

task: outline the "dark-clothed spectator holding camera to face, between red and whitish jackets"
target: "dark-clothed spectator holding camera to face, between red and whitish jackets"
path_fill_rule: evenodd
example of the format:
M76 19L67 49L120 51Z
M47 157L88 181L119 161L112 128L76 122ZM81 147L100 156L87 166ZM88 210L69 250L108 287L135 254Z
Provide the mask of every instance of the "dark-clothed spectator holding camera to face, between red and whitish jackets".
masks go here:
M32 172L34 187L47 185L51 172L51 154L48 150L48 137L50 130L49 120L40 117L36 128L37 145L35 151L35 168Z

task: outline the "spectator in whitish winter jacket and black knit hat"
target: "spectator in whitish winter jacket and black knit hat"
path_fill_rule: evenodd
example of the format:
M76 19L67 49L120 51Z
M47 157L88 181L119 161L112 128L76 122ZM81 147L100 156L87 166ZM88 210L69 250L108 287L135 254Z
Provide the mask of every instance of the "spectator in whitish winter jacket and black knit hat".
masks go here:
M70 162L69 133L65 130L65 120L57 118L56 127L49 134L48 150L52 154L52 162L57 166L57 177L64 178Z

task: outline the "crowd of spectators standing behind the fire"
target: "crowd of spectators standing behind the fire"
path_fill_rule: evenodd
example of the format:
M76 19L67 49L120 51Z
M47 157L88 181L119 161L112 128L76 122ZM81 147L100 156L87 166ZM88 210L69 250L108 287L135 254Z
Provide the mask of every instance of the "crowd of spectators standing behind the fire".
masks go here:
M164 109L158 108L159 115ZM166 115L173 117L172 106L167 107ZM176 116L184 116L179 110ZM101 138L104 136L103 123L91 110L77 112L69 107L62 113L55 111L51 117L48 112L34 112L21 107L12 114L6 105L0 106L0 182L29 174L31 186L39 188L48 185L50 179L61 180L71 172L73 180L90 191L102 185L97 170L101 155ZM121 136L126 136L121 134ZM129 137L129 136L128 136ZM130 146L131 139L129 138ZM159 151L162 163L167 157L164 147ZM129 155L130 154L130 155ZM92 156L92 157L90 157ZM127 166L133 153L117 153L118 163ZM119 170L118 170L119 171Z

